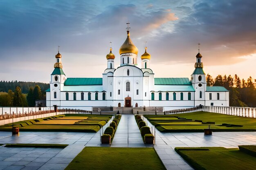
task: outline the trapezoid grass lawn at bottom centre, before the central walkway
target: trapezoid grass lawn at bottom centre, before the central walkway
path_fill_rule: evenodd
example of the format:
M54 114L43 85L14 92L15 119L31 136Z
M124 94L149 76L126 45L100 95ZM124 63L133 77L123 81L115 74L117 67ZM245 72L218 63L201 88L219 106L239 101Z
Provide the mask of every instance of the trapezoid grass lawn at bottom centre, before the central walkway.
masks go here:
M85 147L65 170L166 170L154 148Z

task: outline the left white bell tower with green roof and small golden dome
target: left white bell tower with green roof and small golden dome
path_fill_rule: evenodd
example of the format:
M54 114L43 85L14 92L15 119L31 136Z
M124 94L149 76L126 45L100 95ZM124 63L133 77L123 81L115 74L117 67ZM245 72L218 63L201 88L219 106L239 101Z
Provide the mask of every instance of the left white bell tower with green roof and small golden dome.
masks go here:
M50 81L50 106L61 106L61 90L63 89L64 82L67 79L65 73L62 70L61 54L55 55L56 63L54 64L54 71L51 74Z

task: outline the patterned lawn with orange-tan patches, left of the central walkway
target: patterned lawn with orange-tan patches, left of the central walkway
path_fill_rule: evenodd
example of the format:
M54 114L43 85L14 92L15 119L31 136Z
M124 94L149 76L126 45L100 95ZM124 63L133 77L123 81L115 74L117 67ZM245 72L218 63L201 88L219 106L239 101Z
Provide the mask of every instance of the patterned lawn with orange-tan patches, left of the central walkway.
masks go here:
M31 119L14 123L20 131L48 132L97 132L112 115L66 114L52 117ZM12 124L0 126L2 131L11 131Z

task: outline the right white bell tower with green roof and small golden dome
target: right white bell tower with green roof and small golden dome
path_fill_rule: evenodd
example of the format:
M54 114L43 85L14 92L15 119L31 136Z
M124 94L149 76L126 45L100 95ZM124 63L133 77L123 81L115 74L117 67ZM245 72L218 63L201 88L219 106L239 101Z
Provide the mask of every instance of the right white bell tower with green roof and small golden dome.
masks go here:
M195 89L195 106L204 105L205 106L205 91L206 91L206 77L203 70L202 55L199 49L200 43L198 43L198 54L195 62L195 70L191 75L191 82L193 88Z

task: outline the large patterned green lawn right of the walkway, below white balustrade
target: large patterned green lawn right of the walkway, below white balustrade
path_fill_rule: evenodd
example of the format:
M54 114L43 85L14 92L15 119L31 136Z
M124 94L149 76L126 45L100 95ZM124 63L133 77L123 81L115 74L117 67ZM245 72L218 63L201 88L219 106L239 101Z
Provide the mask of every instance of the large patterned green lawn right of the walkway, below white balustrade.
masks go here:
M144 115L161 132L256 131L256 119L220 113L194 112L175 115ZM178 119L180 117L180 119ZM182 119L186 118L186 119Z

